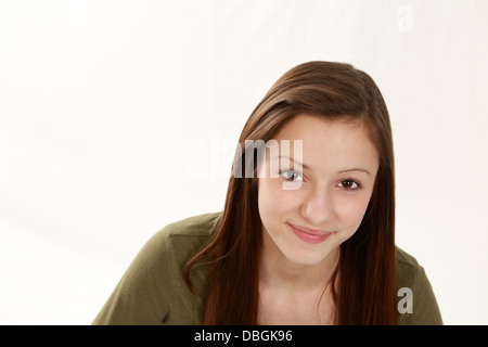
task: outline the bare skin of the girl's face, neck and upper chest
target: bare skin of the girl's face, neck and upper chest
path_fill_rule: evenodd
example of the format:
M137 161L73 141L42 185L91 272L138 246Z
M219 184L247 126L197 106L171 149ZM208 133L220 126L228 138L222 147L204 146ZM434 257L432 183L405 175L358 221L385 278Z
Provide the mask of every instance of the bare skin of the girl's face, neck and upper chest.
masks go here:
M372 195L378 154L358 123L300 114L273 137L288 140L292 159L267 151L258 167L258 208L262 221L259 268L260 324L331 324L335 307L328 281L339 245L359 228ZM293 159L293 141L303 140L303 162ZM269 171L278 160L279 177ZM300 165L303 164L303 165ZM283 166L281 166L283 165ZM288 169L292 169L290 171ZM295 189L283 189L283 182ZM309 243L291 226L330 233Z

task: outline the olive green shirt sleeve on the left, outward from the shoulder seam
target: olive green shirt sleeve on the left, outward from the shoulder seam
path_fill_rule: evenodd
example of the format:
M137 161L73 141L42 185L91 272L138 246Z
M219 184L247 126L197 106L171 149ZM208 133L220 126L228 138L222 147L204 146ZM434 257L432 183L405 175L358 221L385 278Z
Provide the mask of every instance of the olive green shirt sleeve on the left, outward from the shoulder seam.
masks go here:
M165 322L172 295L171 286L167 285L171 277L168 244L165 229L147 241L93 320L93 325Z

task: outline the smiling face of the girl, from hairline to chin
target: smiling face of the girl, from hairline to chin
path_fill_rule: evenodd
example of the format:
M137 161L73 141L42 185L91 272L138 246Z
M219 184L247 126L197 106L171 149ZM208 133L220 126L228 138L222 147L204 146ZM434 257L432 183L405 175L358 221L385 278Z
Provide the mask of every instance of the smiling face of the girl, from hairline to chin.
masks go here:
M290 151L268 150L258 166L264 249L297 266L319 265L359 228L378 154L362 126L313 115L295 116L273 139L287 140ZM299 157L294 140L301 140Z

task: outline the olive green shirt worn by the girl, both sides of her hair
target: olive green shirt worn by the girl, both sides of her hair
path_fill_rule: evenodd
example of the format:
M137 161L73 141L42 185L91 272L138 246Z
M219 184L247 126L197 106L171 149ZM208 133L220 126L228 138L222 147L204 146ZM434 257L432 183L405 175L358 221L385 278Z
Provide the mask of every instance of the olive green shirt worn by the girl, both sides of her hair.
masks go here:
M204 266L192 270L193 295L182 269L209 243L220 216L211 213L190 217L151 237L92 324L202 324L207 271ZM397 286L399 324L442 324L424 269L399 248Z

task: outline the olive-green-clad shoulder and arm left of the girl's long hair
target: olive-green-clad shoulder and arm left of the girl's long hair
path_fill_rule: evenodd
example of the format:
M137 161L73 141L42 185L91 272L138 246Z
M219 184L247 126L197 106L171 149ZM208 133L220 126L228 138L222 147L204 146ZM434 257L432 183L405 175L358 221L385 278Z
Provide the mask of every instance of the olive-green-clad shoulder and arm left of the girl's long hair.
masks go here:
M200 323L203 297L190 293L182 269L210 242L220 215L189 217L155 233L132 260L93 324ZM194 278L202 290L205 272L196 272Z

